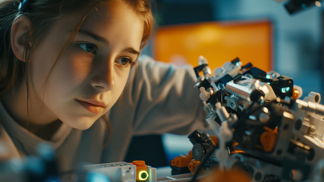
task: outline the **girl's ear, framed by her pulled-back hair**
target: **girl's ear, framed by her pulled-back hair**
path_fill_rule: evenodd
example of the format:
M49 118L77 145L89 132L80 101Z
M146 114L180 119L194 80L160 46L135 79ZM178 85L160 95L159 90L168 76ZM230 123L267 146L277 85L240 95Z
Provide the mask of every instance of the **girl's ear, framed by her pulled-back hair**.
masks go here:
M11 49L20 61L26 62L26 58L24 56L26 41L28 36L30 35L31 30L31 21L26 16L17 17L12 26L11 26ZM28 42L27 48L31 47L31 43ZM26 49L27 49L26 48Z

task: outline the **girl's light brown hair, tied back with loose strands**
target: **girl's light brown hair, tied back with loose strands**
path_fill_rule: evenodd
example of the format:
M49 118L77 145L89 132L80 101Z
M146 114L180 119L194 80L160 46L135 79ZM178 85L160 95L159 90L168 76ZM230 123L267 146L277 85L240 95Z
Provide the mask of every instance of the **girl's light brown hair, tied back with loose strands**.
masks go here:
M140 49L145 47L152 34L153 16L150 0L32 0L28 2L27 10L24 12L18 11L19 3L19 1L5 1L0 4L0 37L2 37L2 41L0 41L0 94L6 92L10 88L13 89L17 81L25 80L27 86L27 105L29 93L28 76L30 72L29 62L33 50L38 46L39 42L44 39L54 22L59 20L63 15L73 12L86 12L83 19L78 23L77 27L75 27L68 40L65 42L60 53L58 53L56 61L47 77L47 81L60 55L64 52L68 42L77 34L86 16L91 11L98 11L100 6L113 7L117 4L124 3L127 8L130 8L142 18L144 32ZM23 54L23 58L26 60L25 62L18 60L11 49L11 26L13 21L19 16L26 16L31 21L31 32L27 33L30 34L30 36L26 39ZM31 47L28 42L32 43ZM103 119L107 123L107 118L103 116Z

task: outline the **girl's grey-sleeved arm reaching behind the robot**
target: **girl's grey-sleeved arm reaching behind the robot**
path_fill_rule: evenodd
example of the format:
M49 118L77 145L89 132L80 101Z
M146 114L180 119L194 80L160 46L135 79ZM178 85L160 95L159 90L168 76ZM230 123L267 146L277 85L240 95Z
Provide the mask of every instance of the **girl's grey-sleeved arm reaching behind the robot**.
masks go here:
M111 122L125 123L133 134L189 134L204 128L207 115L194 84L192 67L175 67L142 56L131 69L123 96L110 111Z

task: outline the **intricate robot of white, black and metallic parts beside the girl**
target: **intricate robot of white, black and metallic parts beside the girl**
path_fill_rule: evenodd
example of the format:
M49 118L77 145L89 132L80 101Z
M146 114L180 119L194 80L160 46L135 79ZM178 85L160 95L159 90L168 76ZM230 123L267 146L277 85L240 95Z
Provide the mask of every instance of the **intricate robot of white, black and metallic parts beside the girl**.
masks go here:
M206 58L198 59L194 87L217 142L206 133L189 135L192 160L200 161L195 173L217 166L239 168L252 181L324 181L324 105L318 93L301 100L292 78L242 65L238 58L214 74Z

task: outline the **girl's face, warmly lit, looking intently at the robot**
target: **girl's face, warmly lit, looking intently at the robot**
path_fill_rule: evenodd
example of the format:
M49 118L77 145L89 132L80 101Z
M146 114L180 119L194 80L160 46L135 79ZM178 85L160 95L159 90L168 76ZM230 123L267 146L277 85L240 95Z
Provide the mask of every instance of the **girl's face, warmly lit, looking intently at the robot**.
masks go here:
M144 27L141 18L124 5L91 11L46 82L83 16L79 13L60 18L34 50L30 62L30 88L34 90L30 94L44 99L39 118L60 119L78 129L89 128L119 98L138 58Z

